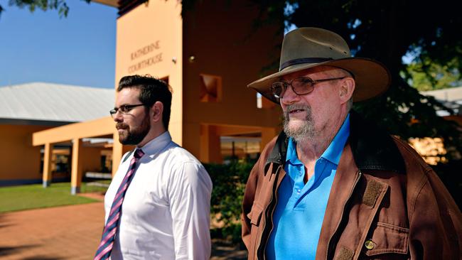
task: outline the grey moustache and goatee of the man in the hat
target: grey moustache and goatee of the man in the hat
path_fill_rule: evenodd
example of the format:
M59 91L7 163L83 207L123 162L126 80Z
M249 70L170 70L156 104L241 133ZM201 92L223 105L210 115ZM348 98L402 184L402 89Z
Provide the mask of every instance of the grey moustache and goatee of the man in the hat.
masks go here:
M293 109L304 109L306 111L305 121L299 128L289 128L289 111ZM312 140L315 136L313 115L311 114L311 107L306 104L289 104L284 113L284 133L293 138L296 142L302 140Z

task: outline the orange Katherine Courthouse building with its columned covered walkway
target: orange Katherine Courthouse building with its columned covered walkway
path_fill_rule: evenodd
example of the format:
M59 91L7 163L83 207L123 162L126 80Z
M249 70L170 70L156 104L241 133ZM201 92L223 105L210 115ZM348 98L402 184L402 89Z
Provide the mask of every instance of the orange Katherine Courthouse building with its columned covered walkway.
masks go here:
M277 134L279 106L246 86L274 72L262 67L277 63L283 31L282 26L254 31L259 10L251 1L198 1L183 17L180 1L98 2L119 9L114 87L125 75L149 74L166 80L173 89L169 125L173 141L200 161L222 163L223 153L257 156ZM72 142L71 192L79 192L85 170L82 140L88 138L118 140L112 119L33 134L33 146L44 150L45 186L50 183L54 147ZM129 149L114 141L112 173Z

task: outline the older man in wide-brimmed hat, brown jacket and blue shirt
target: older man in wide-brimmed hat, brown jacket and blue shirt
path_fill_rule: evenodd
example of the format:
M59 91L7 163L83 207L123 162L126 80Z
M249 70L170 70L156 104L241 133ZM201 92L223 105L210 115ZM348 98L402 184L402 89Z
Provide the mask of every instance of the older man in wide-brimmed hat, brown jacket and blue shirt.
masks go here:
M285 36L279 72L249 85L284 112L245 189L249 259L460 259L461 212L441 180L350 110L389 85L331 31Z

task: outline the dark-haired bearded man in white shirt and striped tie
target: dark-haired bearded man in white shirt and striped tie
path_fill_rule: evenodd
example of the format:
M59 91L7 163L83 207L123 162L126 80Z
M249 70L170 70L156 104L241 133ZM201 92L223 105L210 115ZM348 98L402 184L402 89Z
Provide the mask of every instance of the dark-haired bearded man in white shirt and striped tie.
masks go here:
M122 77L110 114L124 156L104 197L106 224L95 260L209 259L212 182L200 162L168 133L165 82Z

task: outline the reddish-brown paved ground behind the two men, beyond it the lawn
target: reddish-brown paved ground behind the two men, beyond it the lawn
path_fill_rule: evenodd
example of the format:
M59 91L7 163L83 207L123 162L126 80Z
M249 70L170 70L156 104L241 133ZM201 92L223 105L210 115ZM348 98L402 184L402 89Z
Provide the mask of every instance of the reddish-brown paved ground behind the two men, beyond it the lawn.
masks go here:
M102 202L0 214L0 259L92 259L104 222ZM245 251L213 245L212 259L245 259Z

